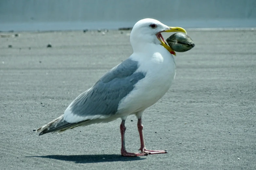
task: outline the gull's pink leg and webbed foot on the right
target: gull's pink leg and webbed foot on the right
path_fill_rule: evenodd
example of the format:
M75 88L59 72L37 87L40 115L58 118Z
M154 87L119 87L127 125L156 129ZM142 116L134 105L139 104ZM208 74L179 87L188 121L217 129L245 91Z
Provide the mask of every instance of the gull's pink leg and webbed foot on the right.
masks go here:
M141 124L141 118L140 118L140 119L138 119L138 131L139 131L140 139L141 139L141 148L139 149L139 150L141 150L141 153L148 153L148 154L168 153L166 150L148 150L148 149L146 149L142 130L143 130L143 125Z

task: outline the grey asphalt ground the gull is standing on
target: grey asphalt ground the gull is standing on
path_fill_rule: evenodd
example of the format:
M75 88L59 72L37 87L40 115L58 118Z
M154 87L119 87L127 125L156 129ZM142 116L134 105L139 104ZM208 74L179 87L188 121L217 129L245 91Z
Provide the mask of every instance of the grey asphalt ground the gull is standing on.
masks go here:
M250 30L188 31L196 46L177 53L174 84L142 120L147 149L167 154L122 157L121 120L59 135L33 132L129 57L128 33L0 37L0 169L256 169L256 31ZM135 116L126 127L127 150L137 152Z

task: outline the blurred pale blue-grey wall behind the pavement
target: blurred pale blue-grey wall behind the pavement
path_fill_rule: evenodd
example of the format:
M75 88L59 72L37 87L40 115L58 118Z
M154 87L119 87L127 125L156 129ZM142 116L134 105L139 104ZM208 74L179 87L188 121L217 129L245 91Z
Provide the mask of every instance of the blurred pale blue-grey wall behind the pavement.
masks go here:
M143 18L184 28L256 27L256 0L0 0L0 31L117 29Z

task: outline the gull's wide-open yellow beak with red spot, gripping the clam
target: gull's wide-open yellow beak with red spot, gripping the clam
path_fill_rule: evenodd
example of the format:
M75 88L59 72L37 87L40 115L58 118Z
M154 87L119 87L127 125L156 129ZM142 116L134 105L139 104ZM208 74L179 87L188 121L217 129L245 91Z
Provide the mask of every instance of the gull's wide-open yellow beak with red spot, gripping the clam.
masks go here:
M162 32L183 32L183 33L187 34L186 30L183 29L183 28L181 28L181 27L169 27L169 29L164 30L164 31L161 31L161 32L159 32L159 33L156 34L157 38L158 38L159 41L161 42L161 45L162 45L164 48L166 48L171 54L173 54L173 55L176 56L175 51L174 51L171 47L169 47L169 46L166 44L165 40L163 39L163 36L162 36L162 34L161 34Z

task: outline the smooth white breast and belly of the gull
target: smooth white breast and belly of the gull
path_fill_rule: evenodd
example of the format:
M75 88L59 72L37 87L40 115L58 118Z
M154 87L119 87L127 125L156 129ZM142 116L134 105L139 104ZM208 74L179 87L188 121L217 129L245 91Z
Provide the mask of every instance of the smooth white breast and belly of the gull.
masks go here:
M176 70L174 58L161 45L157 51L151 54L149 52L145 56L139 54L130 56L140 63L136 72L146 72L146 76L138 81L133 91L120 101L118 106L120 114L132 114L152 106L170 88Z

